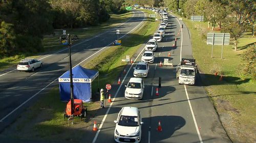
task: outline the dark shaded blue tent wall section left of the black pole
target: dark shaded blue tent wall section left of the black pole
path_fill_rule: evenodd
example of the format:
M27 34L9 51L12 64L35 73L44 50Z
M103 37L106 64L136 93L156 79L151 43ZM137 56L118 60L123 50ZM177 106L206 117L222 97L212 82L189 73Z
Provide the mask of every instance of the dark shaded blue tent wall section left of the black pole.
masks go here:
M61 101L70 99L70 82L59 82L59 93Z

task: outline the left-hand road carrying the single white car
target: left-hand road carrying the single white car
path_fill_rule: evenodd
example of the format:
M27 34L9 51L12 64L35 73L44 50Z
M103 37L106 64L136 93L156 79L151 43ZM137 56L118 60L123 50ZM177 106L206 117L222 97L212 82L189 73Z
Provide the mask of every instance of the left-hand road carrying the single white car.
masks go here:
M120 30L119 38L136 31L144 21L145 14L141 11L133 12L133 17L125 23L72 45L73 67L82 65L108 49L116 40L117 29ZM69 70L68 47L55 53L40 55L38 59L44 65L34 73L18 72L15 67L0 73L0 132L14 122L40 95L58 84L58 77Z

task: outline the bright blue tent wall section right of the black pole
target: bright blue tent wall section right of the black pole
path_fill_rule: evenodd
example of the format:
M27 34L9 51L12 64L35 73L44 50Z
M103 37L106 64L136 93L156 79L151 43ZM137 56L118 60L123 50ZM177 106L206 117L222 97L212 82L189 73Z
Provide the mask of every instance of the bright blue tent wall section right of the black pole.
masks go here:
M83 102L91 101L91 85L90 83L73 83L74 99L81 99Z

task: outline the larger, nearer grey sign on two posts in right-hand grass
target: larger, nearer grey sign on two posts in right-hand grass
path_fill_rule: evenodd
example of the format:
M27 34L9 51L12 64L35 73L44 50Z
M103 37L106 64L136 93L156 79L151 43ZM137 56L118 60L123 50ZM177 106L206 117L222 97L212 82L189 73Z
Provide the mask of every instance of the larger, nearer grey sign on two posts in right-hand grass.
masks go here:
M211 58L214 51L214 45L222 45L221 48L221 59L223 54L223 45L229 45L230 34L229 33L207 33L207 45L212 45L211 47Z

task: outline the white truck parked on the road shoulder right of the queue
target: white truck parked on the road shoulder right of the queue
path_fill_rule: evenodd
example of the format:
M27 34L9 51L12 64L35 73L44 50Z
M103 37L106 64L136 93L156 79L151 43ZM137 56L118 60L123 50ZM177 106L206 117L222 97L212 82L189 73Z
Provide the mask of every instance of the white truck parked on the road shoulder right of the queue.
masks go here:
M196 75L198 69L195 59L181 59L181 63L176 68L176 77L179 78L179 84L190 84L196 83Z

